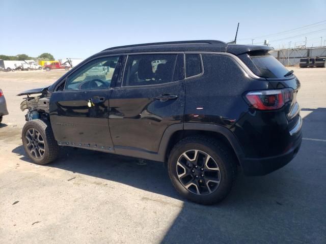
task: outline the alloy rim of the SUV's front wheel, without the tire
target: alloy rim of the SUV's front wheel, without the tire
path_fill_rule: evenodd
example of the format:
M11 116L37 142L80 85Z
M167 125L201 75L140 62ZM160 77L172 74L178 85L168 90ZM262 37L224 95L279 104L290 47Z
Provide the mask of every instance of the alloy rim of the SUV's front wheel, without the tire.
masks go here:
M45 142L40 132L32 128L26 131L26 147L30 154L37 159L41 159L45 153Z

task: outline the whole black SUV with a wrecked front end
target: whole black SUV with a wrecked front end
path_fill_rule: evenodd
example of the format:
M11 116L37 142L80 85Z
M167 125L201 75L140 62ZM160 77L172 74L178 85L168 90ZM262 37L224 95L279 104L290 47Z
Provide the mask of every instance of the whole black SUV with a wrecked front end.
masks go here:
M72 146L167 162L182 196L219 202L238 167L264 175L300 148L300 82L271 50L211 40L105 49L19 94L26 154L47 164Z

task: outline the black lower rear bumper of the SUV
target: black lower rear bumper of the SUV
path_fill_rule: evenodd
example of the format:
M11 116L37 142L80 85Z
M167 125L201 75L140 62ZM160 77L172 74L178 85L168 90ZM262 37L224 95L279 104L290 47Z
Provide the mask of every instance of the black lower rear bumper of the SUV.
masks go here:
M243 158L240 161L243 174L248 176L259 176L271 173L288 164L297 154L302 142L301 127L297 130L298 136L293 146L282 155L267 158Z

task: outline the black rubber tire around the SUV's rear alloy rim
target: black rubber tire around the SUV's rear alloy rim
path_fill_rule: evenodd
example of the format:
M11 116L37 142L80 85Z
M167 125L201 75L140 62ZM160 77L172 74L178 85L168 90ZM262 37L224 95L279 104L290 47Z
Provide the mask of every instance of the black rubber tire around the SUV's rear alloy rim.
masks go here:
M181 159L182 154L192 150L199 150L202 153L206 153L208 156L212 158L213 162L218 165L219 172L220 172L219 173L220 183L215 185L215 190L211 191L211 193L202 194L202 195L193 193L185 188L185 186L181 183L181 180L178 177L177 167L179 166L177 166L177 164ZM203 164L204 164L204 160L205 158L203 158ZM204 167L205 166L203 166L203 168ZM205 170L206 169L204 169L204 171ZM169 161L168 161L168 171L173 186L176 188L176 190L180 193L181 196L183 196L184 198L190 201L200 203L200 204L214 204L214 203L221 202L224 198L226 198L226 196L230 193L234 185L236 170L237 170L236 160L233 154L231 153L230 149L226 147L222 142L205 136L191 136L179 141L171 150ZM185 169L184 172L186 172ZM189 173L189 174L192 174L192 177L194 176L193 173ZM206 183L207 187L205 184L202 183L203 188L200 189L204 189L204 188L208 189L208 184L210 180L207 180L204 177L202 177L202 179L204 180L203 181L204 183L207 182ZM198 179L194 178L194 180L198 180ZM198 189L199 188L197 185L197 193L200 192ZM209 189L209 192L210 190L211 189Z

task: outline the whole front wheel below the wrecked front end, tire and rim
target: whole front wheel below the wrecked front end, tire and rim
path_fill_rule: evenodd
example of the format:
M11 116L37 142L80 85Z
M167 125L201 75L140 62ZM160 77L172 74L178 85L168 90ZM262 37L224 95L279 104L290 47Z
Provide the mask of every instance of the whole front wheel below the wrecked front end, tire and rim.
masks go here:
M28 121L22 129L26 154L36 164L48 164L58 157L59 146L50 125L41 119Z

